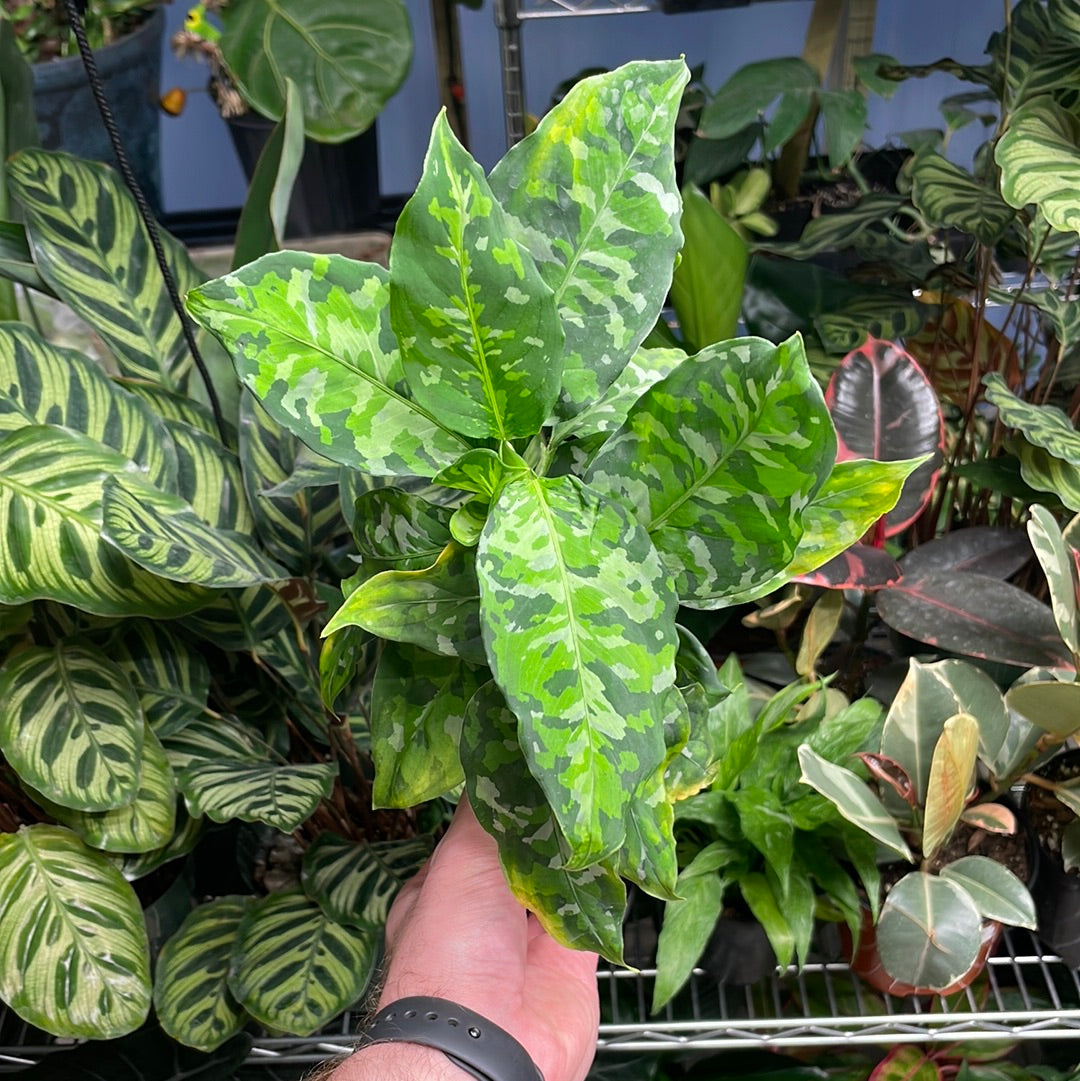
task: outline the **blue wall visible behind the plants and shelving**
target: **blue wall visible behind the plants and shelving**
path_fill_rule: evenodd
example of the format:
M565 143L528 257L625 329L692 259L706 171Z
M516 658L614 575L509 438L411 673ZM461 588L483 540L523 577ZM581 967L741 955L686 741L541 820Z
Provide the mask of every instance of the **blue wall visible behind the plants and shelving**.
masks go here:
M317 2L317 0L312 0ZM386 193L411 191L419 176L430 122L439 107L428 0L405 0L416 36L416 55L403 88L378 120L379 170ZM184 4L166 11L175 28ZM526 22L521 38L525 106L541 112L551 90L590 66L685 54L704 63L706 83L716 89L750 61L797 55L811 4L774 0L750 8L685 15L602 15ZM921 63L951 55L978 62L990 32L1002 19L1000 3L987 0L878 0L875 50ZM490 168L505 150L498 36L490 2L480 11L461 9L462 54L471 149ZM191 61L165 59L163 84L189 91L178 118L162 119L163 198L171 212L237 206L244 183L224 124L209 95L199 89L204 69ZM867 139L880 144L899 131L939 126L936 103L962 89L938 76L901 88L891 102L871 98ZM977 133L962 132L951 154L970 157Z

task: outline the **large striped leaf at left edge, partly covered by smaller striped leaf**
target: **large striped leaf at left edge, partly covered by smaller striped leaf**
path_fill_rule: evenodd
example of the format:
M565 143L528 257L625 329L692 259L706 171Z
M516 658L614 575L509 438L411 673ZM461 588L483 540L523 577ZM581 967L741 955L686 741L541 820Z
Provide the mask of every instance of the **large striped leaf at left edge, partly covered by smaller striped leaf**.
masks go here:
M97 615L170 618L200 590L149 574L101 535L106 480L134 466L64 428L30 426L0 439L0 603L55 600Z

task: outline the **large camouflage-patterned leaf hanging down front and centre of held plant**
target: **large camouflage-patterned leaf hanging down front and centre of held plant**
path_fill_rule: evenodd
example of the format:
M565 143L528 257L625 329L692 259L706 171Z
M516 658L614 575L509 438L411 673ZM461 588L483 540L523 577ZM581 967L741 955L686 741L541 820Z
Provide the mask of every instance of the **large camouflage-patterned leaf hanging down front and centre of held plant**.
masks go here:
M576 478L503 489L480 538L484 644L529 768L587 867L618 851L664 761L677 599L649 535ZM466 771L467 774L468 771Z

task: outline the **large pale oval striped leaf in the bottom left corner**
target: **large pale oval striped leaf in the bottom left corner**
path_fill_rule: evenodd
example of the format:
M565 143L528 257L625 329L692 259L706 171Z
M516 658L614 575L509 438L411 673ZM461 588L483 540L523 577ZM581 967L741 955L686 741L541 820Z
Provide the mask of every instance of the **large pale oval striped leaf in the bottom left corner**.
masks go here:
M149 1012L138 899L59 826L0 835L0 998L55 1036L123 1036Z

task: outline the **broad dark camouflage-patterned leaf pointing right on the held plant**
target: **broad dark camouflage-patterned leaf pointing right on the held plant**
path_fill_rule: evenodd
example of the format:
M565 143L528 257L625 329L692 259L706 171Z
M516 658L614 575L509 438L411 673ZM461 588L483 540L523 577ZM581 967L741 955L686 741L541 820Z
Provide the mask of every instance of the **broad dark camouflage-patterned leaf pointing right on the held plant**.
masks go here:
M637 513L683 603L708 605L790 563L835 456L801 339L736 338L646 390L586 480Z

